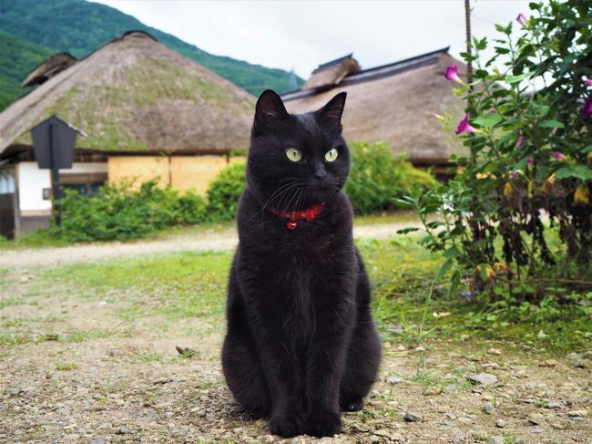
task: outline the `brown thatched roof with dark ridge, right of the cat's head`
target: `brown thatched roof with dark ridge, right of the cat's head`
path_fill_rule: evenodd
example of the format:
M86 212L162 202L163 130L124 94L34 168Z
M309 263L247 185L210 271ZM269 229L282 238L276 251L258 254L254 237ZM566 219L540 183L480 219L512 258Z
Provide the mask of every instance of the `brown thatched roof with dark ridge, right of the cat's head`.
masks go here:
M444 78L450 65L466 72L448 48L383 67L353 72L335 88L301 89L281 98L291 112L320 108L335 94L346 91L343 133L348 141L383 141L394 153L406 152L416 164L446 163L462 150L460 139L444 133L433 113L464 114L464 103L453 95L454 85Z

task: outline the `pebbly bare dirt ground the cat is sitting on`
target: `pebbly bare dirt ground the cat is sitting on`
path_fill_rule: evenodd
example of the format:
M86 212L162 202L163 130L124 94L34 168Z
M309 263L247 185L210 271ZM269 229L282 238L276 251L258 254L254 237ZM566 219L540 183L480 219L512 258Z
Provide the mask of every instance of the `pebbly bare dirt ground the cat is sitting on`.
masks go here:
M380 380L340 435L280 439L232 402L221 317L122 321L124 298L32 292L33 264L5 268L0 288L3 333L35 338L0 343L0 442L592 443L589 351L575 367L573 356L463 337L384 343ZM29 303L2 304L18 298ZM82 330L98 333L54 334ZM469 381L481 373L491 380Z

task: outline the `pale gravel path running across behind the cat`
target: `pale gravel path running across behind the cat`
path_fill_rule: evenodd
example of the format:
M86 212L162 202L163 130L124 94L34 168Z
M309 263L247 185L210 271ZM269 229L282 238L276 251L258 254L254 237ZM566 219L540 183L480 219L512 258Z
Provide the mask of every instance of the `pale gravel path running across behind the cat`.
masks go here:
M413 222L376 223L357 226L353 230L356 238L373 237L381 239L393 236L397 230L418 226ZM15 251L0 251L0 267L21 267L30 265L57 265L61 263L93 262L101 259L116 259L158 253L203 252L209 250L231 250L238 242L236 232L187 234L155 241L134 243L88 243L58 248L41 248Z

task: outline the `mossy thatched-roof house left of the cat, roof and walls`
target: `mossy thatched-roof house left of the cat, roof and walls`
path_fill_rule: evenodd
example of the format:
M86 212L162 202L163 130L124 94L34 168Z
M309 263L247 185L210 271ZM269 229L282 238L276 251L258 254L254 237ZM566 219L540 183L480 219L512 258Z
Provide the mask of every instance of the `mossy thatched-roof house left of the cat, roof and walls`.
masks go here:
M0 235L47 225L49 170L37 166L30 129L52 115L86 132L61 188L158 179L204 192L246 149L255 98L144 32L130 31L82 59L56 54L23 82L37 88L0 114ZM209 154L209 155L208 155Z

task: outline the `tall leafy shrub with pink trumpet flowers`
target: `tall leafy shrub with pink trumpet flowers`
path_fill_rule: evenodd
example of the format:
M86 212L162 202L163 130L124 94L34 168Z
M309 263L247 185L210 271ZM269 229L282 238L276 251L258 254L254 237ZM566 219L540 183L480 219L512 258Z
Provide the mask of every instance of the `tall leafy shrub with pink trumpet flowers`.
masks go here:
M424 221L428 212L443 215L425 222L422 242L444 252L439 276L454 267L452 290L463 277L477 293L505 283L531 298L557 283L592 285L590 3L530 7L516 24L496 26L491 59L479 54L492 42L473 40L464 54L475 64L472 79L446 70L466 99L456 135L468 154L454 158L462 171L449 186L402 201ZM495 67L502 59L504 68Z

